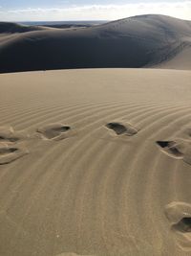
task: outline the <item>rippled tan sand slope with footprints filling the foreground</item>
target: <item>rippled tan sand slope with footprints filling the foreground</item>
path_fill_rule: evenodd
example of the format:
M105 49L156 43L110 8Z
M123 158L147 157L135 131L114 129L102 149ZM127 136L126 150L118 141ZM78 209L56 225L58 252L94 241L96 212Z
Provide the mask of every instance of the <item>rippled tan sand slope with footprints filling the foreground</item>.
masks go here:
M1 74L0 255L191 255L190 81Z

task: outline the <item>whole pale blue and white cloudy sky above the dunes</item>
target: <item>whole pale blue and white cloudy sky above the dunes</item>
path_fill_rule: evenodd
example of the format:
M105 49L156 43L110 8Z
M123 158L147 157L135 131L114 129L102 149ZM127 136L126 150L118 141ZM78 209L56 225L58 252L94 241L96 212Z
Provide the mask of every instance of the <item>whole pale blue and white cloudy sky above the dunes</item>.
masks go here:
M115 20L148 13L191 20L191 0L0 0L0 21Z

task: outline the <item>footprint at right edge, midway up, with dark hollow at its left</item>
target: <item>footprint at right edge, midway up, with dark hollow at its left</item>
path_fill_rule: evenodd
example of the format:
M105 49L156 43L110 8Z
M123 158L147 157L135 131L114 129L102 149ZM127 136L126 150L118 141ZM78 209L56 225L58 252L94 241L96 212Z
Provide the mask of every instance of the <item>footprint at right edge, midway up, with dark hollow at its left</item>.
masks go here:
M171 140L157 141L160 150L168 156L175 159L182 159L185 163L191 165L191 141L190 140Z

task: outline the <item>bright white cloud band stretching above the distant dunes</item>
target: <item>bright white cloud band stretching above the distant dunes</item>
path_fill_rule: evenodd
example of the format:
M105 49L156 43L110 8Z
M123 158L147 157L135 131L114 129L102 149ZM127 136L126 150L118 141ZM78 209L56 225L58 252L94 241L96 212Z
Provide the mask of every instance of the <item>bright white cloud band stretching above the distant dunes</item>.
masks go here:
M191 19L191 1L137 3L123 5L87 5L68 8L28 8L0 12L0 20L95 20L159 13L182 19Z

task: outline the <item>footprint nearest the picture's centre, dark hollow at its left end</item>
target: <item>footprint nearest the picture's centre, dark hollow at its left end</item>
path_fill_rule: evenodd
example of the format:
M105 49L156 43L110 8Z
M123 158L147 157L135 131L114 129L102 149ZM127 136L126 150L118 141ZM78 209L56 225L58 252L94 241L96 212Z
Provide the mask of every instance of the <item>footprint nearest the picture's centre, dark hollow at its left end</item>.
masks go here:
M138 133L137 128L125 122L111 122L106 125L106 128L112 129L117 135L133 136Z

